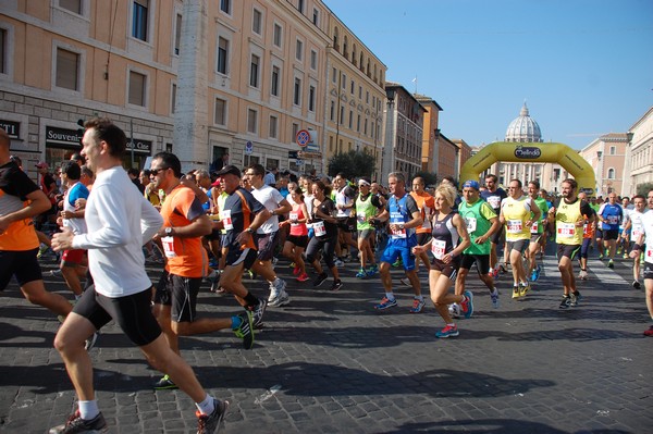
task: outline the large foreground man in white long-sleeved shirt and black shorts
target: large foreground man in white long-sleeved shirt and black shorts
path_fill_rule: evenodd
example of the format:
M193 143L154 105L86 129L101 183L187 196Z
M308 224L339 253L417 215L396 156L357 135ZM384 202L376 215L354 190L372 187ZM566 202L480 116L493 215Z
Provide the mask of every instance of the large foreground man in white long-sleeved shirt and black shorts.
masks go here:
M93 386L93 364L84 342L114 320L147 360L167 372L196 404L198 433L218 430L229 402L208 395L193 369L168 345L151 312L152 284L145 271L141 246L161 228L163 220L122 168L127 138L107 119L85 123L82 154L97 179L86 204L87 234L69 228L56 234L57 250L88 249L95 285L87 288L54 338L78 398L78 409L50 433L102 431L107 422Z

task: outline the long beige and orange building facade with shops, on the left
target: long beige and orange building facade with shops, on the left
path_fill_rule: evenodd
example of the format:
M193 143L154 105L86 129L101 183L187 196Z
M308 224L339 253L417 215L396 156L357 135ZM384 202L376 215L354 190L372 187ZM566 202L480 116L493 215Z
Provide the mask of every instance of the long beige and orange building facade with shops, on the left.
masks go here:
M0 124L33 172L78 151L95 115L133 136L125 166L168 150L184 169L321 173L367 149L380 168L386 67L319 0L9 0L0 50Z

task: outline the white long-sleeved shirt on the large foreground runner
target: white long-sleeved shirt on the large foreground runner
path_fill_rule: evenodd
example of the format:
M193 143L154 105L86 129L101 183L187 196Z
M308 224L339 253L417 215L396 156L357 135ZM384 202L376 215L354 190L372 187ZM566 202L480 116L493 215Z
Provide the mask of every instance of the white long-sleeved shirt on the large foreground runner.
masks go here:
M161 228L163 218L122 166L98 174L85 220L88 233L75 235L73 248L88 250L96 292L118 298L149 290L141 247Z

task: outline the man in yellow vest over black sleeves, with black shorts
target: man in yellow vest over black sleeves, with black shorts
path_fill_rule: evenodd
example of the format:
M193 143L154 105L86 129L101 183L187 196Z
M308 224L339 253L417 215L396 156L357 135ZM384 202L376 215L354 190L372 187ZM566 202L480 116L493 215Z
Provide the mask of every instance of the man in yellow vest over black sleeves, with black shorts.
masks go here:
M578 306L580 293L576 288L574 276L574 259L582 245L582 233L586 224L594 221L588 202L578 198L576 179L563 181L562 198L549 210L547 219L555 222L555 241L557 244L558 270L563 281L563 299L559 308Z

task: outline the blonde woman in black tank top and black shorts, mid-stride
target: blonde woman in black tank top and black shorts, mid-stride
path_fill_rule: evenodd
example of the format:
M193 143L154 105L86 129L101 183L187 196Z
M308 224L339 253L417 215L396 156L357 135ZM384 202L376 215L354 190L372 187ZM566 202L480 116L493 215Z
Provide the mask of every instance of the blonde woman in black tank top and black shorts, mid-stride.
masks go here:
M460 303L465 318L470 318L473 313L473 295L470 290L466 290L464 295L451 294L448 290L452 282L456 281L460 255L471 245L465 221L452 209L456 197L457 191L453 185L438 186L431 240L412 248L416 255L429 248L433 252L433 262L429 271L429 288L431 301L445 323L444 328L435 333L435 337L440 338L459 334L457 325L449 315L448 305Z

